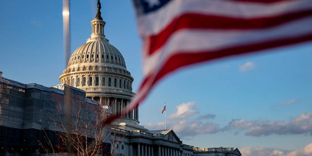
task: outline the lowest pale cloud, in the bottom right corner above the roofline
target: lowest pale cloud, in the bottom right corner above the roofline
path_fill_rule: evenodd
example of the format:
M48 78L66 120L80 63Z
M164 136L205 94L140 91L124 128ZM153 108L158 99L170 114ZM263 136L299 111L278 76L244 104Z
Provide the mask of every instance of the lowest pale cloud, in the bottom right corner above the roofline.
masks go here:
M292 151L259 147L243 147L239 151L242 156L312 156L312 143Z

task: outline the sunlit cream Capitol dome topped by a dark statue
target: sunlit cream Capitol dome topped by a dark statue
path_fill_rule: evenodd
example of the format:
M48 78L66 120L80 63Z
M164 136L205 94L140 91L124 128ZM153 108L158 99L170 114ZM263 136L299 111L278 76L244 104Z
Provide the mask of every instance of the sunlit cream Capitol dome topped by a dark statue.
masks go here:
M134 95L134 79L121 53L105 38L106 22L101 17L100 8L98 1L97 16L91 21L91 37L74 51L59 80L62 84L84 90L87 98L110 107L112 114L117 115ZM120 118L138 124L138 108Z

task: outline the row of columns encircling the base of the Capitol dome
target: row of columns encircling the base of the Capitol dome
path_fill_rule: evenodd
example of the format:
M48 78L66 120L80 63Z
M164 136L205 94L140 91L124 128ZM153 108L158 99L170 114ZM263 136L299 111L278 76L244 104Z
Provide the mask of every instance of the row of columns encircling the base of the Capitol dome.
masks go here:
M110 98L107 97L91 97L93 100L98 100L99 103L103 105L109 105L112 107L112 114L117 115L120 113L127 105L129 105L130 100L125 98L113 98L110 101ZM129 113L124 116L120 117L127 117L138 120L138 107L133 108Z

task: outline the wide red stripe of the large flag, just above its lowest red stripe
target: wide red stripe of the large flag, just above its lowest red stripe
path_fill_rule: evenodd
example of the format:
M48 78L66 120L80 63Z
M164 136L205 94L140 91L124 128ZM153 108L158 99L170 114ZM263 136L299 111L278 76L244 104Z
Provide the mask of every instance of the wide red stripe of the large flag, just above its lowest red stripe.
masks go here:
M170 36L180 29L259 29L277 26L292 20L312 16L312 9L289 14L254 19L238 19L202 14L184 14L173 20L163 31L150 37L148 54L155 53Z

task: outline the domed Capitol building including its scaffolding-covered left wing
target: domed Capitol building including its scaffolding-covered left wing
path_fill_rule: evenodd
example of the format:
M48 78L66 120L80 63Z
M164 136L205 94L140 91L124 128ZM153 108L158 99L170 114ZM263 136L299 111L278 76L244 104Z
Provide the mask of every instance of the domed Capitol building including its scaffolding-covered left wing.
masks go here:
M57 131L50 116L54 115L55 103L64 103L64 87L70 88L73 99L85 105L103 106L110 115L119 114L129 104L135 95L134 78L122 53L105 37L106 22L100 8L98 1L96 17L91 21L91 37L73 52L59 76L59 85L23 84L3 78L0 72L0 156L45 155L38 140L43 140L45 132L54 136ZM106 128L109 138L105 143L110 147L106 155L241 156L237 148L183 144L172 129L148 130L139 125L138 113L138 107L134 108Z

